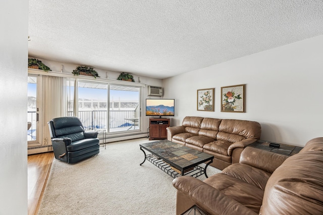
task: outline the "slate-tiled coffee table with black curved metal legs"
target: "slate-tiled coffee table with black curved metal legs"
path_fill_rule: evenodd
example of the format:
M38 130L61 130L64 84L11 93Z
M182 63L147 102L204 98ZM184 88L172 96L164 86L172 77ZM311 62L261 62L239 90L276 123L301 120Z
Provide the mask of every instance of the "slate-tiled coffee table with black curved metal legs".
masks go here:
M147 160L174 178L183 175L198 177L203 173L207 178L206 168L214 158L169 140L147 142L139 146L145 156L140 166ZM151 154L146 155L144 150ZM199 166L207 161L209 162L204 168Z

